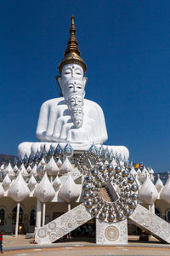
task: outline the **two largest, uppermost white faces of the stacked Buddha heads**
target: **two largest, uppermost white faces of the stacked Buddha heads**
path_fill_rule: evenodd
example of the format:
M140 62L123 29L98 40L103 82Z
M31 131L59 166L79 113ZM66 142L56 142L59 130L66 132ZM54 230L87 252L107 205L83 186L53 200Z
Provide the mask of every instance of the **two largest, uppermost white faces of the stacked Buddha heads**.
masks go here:
M61 78L58 79L65 100L72 93L79 96L84 96L84 87L86 79L83 78L83 69L77 64L66 64L61 73Z

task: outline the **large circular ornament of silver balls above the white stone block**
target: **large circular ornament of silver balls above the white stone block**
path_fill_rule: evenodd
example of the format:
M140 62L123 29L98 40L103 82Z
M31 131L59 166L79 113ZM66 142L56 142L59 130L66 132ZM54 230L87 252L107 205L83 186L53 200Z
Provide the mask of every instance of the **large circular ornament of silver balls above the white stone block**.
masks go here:
M91 165L87 166L88 162ZM127 169L102 164L98 156L89 153L79 155L77 168L83 175L86 174L82 198L88 212L95 218L119 222L133 213L138 204L139 189Z

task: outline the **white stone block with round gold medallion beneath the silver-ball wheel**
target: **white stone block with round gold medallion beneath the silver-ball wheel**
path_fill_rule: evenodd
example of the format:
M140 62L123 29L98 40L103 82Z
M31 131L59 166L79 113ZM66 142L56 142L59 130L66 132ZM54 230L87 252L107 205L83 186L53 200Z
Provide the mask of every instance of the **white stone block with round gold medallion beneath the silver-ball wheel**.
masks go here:
M127 219L112 224L96 218L96 243L99 245L127 244Z

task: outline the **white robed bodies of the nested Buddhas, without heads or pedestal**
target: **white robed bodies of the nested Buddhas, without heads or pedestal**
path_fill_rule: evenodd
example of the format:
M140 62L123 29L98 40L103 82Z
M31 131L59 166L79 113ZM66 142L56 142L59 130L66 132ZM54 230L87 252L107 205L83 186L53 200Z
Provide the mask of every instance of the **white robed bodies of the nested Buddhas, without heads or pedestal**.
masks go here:
M82 109L82 127L76 128L63 97L44 102L37 123L37 139L56 143L105 143L107 131L102 109L89 100L84 100Z

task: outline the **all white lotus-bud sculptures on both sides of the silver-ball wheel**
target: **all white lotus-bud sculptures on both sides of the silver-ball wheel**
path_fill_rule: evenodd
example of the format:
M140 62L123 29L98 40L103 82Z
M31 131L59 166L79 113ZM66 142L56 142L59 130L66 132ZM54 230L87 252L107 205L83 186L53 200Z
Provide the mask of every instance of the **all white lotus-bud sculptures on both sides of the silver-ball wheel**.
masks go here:
M109 163L105 161L104 164L107 165ZM117 166L114 159L110 164ZM42 158L38 166L35 164L33 168L28 166L27 169L23 164L20 166L20 169L18 169L17 166L14 166L13 168L10 163L5 168L4 166L1 166L0 168L2 177L5 176L0 184L1 197L4 195L4 190L8 190L8 196L14 199L14 201L23 201L34 190L32 194L33 196L37 197L39 201L47 202L52 201L56 191L58 191L61 201L69 203L71 201L76 201L81 193L71 177L71 172L73 171L74 166L68 158L62 163L60 159L55 162L54 157L52 156L47 165ZM154 180L154 172L152 169L148 171L144 167L142 171L140 171L140 169L135 171L132 167L130 173L135 177L136 182L138 183L139 199L141 201L147 205L152 205L156 199L162 199L167 203L170 203L170 176L164 186L160 177L158 177L156 184L152 182ZM16 177L17 175L18 177ZM62 182L58 175L67 176L61 188L60 185ZM50 181L48 176L51 176ZM40 183L37 183L37 177L42 178Z

